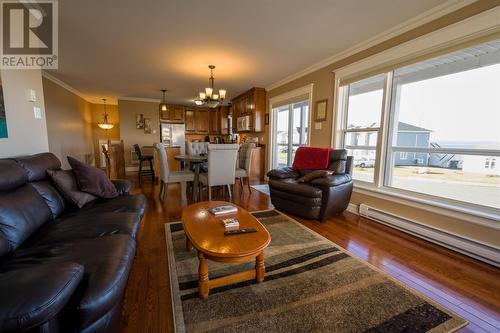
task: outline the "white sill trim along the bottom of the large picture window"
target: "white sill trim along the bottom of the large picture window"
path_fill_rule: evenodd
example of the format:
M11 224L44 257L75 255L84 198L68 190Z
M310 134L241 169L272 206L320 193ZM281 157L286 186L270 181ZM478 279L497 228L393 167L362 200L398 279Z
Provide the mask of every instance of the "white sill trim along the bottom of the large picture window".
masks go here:
M404 191L397 191L389 188L376 188L373 185L370 185L371 184L366 182L364 184L360 184L355 181L354 192L369 195L371 197L376 194L375 197L378 199L387 200L400 205L422 209L434 214L444 215L500 230L500 223L498 223L500 221L500 215L493 211L478 211L441 197L439 198L439 201L435 201L430 199L429 195L425 195L425 197L419 195L418 193L412 193L409 195L405 194Z

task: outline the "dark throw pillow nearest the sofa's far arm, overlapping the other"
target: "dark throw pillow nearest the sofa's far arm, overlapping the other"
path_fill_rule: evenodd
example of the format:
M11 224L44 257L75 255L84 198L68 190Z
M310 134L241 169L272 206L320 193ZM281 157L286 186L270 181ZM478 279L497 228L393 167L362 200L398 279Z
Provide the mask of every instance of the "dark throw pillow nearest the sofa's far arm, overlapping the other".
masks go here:
M105 199L112 199L118 196L116 187L103 170L80 162L70 156L68 156L68 162L73 169L80 190Z

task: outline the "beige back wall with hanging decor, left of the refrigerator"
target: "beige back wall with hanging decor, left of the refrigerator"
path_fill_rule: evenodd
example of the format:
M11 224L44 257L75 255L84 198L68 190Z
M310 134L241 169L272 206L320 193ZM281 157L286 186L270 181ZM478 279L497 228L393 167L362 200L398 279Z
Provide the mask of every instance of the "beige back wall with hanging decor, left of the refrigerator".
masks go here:
M118 101L120 115L120 135L125 145L125 166L135 166L130 161L132 145L137 143L142 146L151 146L160 141L160 118L157 102ZM151 134L144 130L136 129L135 115L142 113L144 118L151 118Z

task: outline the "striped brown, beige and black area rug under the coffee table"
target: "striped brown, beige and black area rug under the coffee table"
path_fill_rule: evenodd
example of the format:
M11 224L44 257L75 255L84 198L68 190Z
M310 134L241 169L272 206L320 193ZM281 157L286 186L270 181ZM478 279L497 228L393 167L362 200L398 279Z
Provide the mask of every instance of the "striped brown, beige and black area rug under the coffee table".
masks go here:
M453 332L467 322L275 210L256 212L272 241L266 277L197 295L198 259L182 223L165 225L177 332ZM209 261L210 278L254 262Z

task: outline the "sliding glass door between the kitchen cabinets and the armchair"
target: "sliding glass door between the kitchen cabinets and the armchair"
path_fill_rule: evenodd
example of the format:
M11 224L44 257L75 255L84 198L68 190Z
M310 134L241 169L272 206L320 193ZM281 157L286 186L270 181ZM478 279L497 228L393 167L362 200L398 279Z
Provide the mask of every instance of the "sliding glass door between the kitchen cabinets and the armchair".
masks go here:
M274 153L272 167L292 165L295 151L307 145L309 102L307 100L273 108Z

